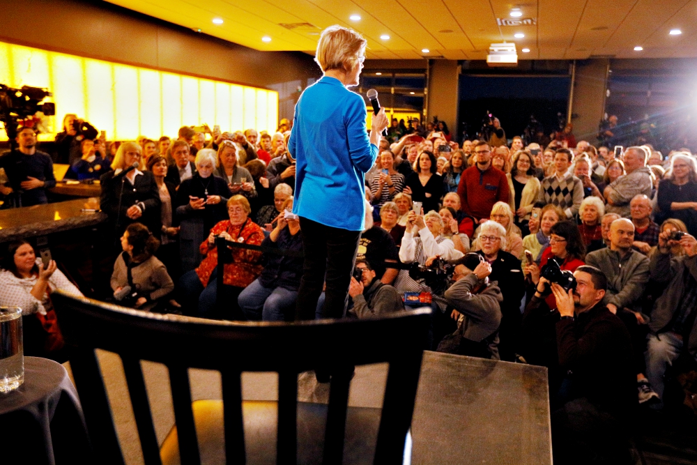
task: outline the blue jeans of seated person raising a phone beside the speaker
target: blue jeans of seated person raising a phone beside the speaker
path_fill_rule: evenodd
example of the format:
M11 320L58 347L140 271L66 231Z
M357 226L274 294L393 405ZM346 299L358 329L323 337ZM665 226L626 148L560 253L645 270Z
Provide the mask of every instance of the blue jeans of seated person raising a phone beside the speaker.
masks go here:
M238 303L248 320L293 321L298 291L263 287L258 279L240 293Z

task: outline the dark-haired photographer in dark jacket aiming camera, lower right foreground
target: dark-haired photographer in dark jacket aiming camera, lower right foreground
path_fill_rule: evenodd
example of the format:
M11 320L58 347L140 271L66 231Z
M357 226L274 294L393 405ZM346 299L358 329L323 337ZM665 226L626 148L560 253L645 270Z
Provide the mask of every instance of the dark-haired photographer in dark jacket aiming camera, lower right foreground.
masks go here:
M568 292L551 284L560 314L557 356L567 373L551 415L554 462L626 464L624 432L637 403L629 333L603 303L602 271L579 266L574 277Z

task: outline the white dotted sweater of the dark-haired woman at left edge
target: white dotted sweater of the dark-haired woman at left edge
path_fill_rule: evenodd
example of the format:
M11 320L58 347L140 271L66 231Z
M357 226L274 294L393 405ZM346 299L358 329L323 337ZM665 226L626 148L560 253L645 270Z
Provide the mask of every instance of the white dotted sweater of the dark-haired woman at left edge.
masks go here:
M36 259L36 264L40 264L41 259ZM37 277L17 277L8 270L0 271L0 305L20 307L23 315L33 313L46 314L44 305L48 303L48 296L44 294L42 300L38 300L31 295L31 288L34 287ZM70 280L56 269L51 277L48 278L49 293L55 289L61 289L76 296L82 296L82 292L72 284Z

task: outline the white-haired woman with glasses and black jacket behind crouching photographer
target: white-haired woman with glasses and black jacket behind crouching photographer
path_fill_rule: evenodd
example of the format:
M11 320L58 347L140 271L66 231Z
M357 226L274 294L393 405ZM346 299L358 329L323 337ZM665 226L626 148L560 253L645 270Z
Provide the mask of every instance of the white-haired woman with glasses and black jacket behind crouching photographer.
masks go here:
M489 281L498 282L503 296L498 350L501 360L512 361L521 326L521 299L525 294L521 261L504 250L507 246L506 229L496 221L482 223L477 242L481 248L476 253L491 264Z

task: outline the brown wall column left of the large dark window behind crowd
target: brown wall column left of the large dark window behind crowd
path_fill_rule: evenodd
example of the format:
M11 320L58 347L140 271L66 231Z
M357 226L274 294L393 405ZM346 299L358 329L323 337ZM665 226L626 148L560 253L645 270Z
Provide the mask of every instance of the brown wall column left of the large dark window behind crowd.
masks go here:
M455 60L431 60L428 82L427 119L434 116L447 123L450 133L457 131L459 70Z

